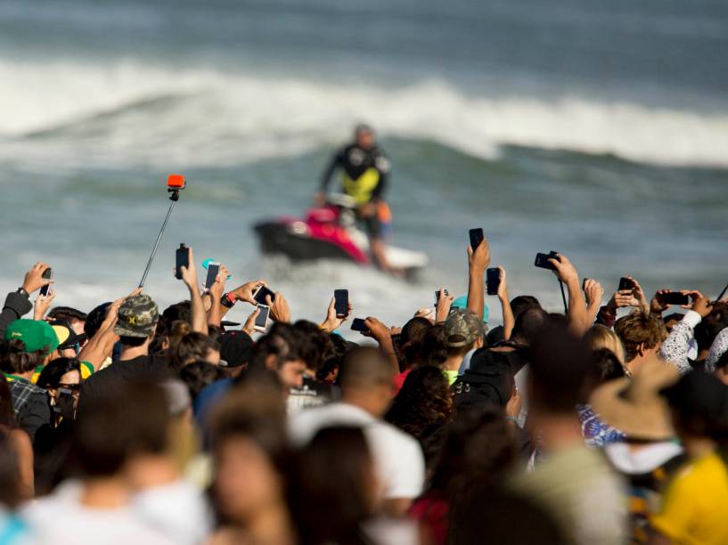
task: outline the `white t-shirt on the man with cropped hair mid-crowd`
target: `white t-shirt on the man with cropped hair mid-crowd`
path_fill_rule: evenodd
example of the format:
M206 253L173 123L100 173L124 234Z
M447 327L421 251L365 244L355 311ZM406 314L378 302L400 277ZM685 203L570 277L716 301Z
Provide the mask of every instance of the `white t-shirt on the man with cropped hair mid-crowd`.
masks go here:
M300 412L289 420L290 439L293 443L305 444L318 430L331 426L361 427L364 430L384 498L416 498L420 495L425 479L420 443L354 405L329 403Z

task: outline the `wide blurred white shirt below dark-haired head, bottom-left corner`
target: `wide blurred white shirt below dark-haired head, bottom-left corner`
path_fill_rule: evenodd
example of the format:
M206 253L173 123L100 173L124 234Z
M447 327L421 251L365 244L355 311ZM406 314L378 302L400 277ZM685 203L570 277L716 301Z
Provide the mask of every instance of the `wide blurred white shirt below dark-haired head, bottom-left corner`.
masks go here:
M28 522L34 542L47 545L172 545L161 533L144 525L131 507L88 508L81 504L82 485L66 482L52 495L29 503L20 515Z

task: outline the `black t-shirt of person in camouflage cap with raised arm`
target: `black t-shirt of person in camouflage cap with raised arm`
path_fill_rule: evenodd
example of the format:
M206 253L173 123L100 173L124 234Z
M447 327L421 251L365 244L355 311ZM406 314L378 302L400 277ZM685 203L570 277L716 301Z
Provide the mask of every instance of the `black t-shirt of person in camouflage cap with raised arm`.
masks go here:
M81 385L81 395L78 399L78 408L83 406L84 400L94 396L114 395L116 389L127 382L159 380L171 375L167 358L158 355L138 356L133 360L113 362L111 365L93 375Z

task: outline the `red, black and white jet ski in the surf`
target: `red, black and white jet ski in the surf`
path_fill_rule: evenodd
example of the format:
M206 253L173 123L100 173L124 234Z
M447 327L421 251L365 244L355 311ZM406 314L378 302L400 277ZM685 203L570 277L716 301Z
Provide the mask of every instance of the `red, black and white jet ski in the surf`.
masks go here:
M323 207L311 208L304 218L282 216L254 225L264 255L287 256L291 261L332 259L374 266L369 238L356 226L356 211L346 195L329 195ZM388 244L387 261L406 278L428 264L428 257Z

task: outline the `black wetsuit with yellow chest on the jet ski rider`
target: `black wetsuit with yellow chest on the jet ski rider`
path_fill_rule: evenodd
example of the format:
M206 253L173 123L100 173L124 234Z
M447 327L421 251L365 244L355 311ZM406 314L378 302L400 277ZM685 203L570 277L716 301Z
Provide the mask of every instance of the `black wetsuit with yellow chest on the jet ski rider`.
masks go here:
M389 159L376 146L364 150L358 145L348 145L334 156L331 164L323 174L321 191L329 189L331 176L337 168L343 170L341 183L343 191L361 207L368 202L382 198L387 187L389 175ZM378 215L364 217L369 236L372 239L381 237L381 226Z

